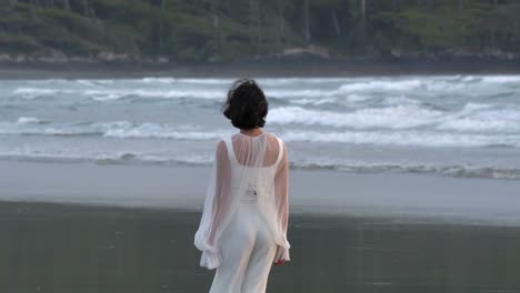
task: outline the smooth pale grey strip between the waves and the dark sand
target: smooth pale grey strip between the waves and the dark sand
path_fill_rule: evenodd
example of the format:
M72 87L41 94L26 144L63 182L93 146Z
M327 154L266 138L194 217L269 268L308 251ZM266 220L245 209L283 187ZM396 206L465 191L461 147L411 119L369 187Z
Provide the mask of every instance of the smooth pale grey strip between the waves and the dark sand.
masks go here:
M200 211L210 166L0 161L0 200ZM291 213L520 226L520 181L291 170Z

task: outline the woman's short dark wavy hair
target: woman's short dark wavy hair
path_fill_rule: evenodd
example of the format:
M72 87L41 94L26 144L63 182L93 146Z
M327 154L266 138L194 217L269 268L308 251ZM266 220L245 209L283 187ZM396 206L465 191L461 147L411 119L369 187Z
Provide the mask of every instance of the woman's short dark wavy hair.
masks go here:
M222 105L226 118L239 129L263 128L269 103L263 91L251 79L237 80L228 91L228 99Z

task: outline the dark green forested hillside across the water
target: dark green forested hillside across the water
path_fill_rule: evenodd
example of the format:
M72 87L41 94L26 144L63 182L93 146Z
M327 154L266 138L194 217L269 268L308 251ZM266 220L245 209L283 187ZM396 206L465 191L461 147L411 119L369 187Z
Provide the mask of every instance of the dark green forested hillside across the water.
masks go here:
M520 55L517 0L2 1L3 59Z

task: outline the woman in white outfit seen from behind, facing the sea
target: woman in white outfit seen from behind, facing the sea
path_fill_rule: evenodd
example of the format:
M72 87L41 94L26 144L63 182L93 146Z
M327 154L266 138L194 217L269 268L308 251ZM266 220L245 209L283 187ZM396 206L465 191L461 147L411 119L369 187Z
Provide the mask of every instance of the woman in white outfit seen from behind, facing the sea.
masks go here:
M252 80L238 80L223 114L240 129L217 144L196 246L200 265L217 269L211 293L266 292L271 264L290 261L288 156L261 130L268 101Z

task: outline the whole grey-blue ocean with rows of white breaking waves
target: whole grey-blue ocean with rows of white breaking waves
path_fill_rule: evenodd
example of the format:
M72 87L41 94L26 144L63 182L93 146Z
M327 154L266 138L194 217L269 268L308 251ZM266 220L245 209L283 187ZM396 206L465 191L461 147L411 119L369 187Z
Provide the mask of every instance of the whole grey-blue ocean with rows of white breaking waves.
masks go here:
M520 180L520 75L257 79L292 169ZM0 81L0 160L209 165L232 79Z

